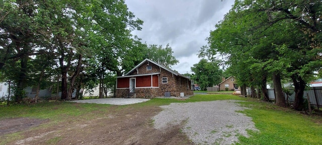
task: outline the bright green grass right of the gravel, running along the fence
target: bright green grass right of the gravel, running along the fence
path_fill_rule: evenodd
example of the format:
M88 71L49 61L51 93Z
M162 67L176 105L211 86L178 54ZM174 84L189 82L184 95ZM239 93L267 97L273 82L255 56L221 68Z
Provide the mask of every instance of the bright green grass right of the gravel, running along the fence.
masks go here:
M259 131L239 136L237 144L322 144L322 117L279 108L266 102L239 102L250 107L240 111L253 118Z

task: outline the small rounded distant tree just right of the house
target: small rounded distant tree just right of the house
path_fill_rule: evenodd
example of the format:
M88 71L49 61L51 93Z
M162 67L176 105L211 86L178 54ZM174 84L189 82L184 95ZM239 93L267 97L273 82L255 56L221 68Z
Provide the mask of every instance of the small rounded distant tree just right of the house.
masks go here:
M206 90L206 87L212 87L221 82L222 70L216 62L208 62L206 59L201 59L191 67L191 70L194 72L192 80L202 90Z

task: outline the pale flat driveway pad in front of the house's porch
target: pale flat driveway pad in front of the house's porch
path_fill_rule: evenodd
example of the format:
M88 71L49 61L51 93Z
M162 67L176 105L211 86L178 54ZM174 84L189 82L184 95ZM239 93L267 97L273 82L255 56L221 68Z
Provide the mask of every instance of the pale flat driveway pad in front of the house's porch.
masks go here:
M74 101L68 101L68 102L128 105L128 104L141 103L149 100L150 99L141 99L141 98L101 98L101 99L74 100Z

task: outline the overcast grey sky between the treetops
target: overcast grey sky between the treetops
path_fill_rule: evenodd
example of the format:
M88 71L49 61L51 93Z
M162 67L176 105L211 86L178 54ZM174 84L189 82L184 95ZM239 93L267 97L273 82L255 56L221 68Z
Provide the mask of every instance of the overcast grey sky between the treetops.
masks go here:
M133 35L142 43L169 43L179 60L172 66L180 74L192 73L190 67L199 62L197 53L215 24L223 19L234 0L125 0L129 11L143 20L141 31Z

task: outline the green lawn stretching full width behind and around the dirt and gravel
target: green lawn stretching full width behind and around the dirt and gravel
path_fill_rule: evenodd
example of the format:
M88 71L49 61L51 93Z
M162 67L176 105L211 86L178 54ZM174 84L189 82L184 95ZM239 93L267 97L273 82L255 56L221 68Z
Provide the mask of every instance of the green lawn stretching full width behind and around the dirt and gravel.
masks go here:
M104 116L104 112L118 111L122 108L141 108L147 106L161 106L170 103L186 103L215 100L243 100L241 106L248 107L241 113L253 118L259 131L249 131L250 137L239 136L237 144L321 144L322 117L306 115L287 108L280 108L272 103L257 99L243 98L233 95L195 95L190 99L151 99L150 101L132 105L106 104L76 104L70 102L46 102L29 105L0 106L0 119L12 117L33 117L48 119L55 123L63 122L67 118L84 117L91 119ZM10 135L15 138L15 133ZM19 138L19 135L17 136ZM1 142L1 141L0 141ZM1 144L1 143L0 143Z

